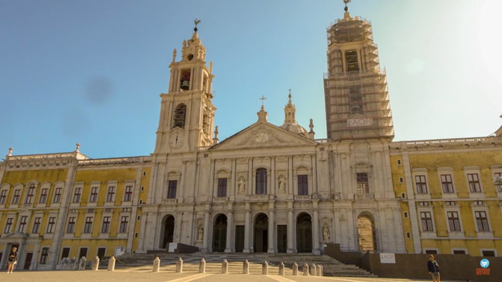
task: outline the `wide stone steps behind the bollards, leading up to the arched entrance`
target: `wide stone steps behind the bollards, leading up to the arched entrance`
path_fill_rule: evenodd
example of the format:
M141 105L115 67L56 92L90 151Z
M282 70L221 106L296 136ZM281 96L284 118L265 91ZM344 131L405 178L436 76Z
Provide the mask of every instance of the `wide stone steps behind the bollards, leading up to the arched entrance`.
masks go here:
M242 273L242 262L249 261L250 274L262 274L262 263L267 260L269 263L269 274L279 273L279 263L285 264L284 272L286 275L292 275L293 262L298 263L299 275L303 273L303 264L308 263L311 266L313 263L323 266L325 276L349 276L349 277L376 277L370 272L361 269L353 264L344 264L327 255L313 255L309 253L192 253L192 254L175 254L175 253L128 253L116 257L116 269L128 269L133 271L149 272L153 269L153 260L159 256L161 260L161 272L175 272L176 260L178 257L183 259L183 272L198 273L199 261L203 257L206 260L206 273L221 273L221 262L223 259L228 261L228 273ZM105 269L108 264L108 259L103 259L100 262L100 267Z

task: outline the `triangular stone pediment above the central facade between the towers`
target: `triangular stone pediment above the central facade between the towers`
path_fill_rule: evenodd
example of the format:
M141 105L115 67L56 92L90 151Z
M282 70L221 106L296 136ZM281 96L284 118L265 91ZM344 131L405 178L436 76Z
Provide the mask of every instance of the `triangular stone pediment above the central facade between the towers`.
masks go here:
M259 121L226 138L209 150L308 146L317 143L268 122Z

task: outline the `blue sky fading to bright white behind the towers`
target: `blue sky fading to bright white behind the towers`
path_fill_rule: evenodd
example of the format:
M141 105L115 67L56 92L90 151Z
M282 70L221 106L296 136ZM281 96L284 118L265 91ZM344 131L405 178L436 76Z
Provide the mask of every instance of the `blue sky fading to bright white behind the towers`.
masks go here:
M502 123L498 0L354 0L387 68L395 140L486 136ZM173 48L193 19L214 62L220 140L257 120L261 95L281 125L288 88L297 120L326 137L324 1L0 0L0 156L153 152Z

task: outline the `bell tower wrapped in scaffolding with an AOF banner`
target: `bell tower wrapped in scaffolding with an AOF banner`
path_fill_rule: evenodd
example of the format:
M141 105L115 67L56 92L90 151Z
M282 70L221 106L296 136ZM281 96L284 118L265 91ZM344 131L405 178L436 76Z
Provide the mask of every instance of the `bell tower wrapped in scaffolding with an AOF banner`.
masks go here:
M327 29L326 127L332 140L394 137L385 69L371 23L349 13Z

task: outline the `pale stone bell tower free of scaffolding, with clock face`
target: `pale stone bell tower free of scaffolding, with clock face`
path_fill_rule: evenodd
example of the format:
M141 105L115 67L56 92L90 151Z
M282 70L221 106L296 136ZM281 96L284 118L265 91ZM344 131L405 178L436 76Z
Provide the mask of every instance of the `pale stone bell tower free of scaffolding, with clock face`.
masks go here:
M200 21L195 19L194 23L192 37L183 40L179 61L176 49L173 51L168 93L160 95L156 154L195 152L198 147L213 144L213 64L206 65L206 48L197 33Z

